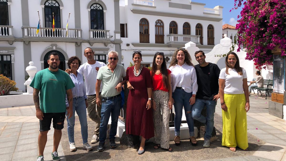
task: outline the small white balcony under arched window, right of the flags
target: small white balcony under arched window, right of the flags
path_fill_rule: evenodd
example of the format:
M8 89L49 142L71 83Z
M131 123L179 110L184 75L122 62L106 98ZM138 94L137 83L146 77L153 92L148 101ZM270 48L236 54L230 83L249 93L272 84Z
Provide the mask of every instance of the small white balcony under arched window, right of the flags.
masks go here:
M109 30L89 30L90 39L88 42L92 46L94 43L104 43L107 46L110 43Z

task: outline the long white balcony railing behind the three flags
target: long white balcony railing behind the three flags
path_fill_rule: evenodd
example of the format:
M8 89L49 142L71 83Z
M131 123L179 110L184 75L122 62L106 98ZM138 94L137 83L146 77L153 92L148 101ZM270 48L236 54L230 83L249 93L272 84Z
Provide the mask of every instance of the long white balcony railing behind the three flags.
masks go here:
M23 27L24 28L24 36L29 37L61 37L61 38L81 38L81 29L68 29L66 36L65 28L55 28L53 32L53 28L41 28L37 33L37 28L35 27Z

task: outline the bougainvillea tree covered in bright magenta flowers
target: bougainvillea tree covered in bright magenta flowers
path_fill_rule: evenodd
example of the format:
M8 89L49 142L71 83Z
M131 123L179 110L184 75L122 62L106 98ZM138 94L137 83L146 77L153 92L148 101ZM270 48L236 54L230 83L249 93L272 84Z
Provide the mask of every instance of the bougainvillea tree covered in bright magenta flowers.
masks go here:
M236 25L238 51L247 48L245 59L253 60L258 69L272 64L271 50L277 45L286 56L286 0L235 0L234 9L242 4Z

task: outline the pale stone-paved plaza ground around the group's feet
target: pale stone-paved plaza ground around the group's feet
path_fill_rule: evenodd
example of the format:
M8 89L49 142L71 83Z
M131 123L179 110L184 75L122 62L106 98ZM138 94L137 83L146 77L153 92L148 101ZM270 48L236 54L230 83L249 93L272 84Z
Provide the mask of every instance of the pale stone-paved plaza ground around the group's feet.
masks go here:
M58 153L61 160L116 160L118 157L124 157L124 160L207 160L202 157L189 157L192 155L205 154L210 155L213 160L285 160L286 161L286 120L269 115L268 101L261 97L250 97L251 109L247 113L247 123L249 134L249 151L230 152L227 148L220 146L220 140L214 141L210 148L202 148L201 145L195 148L189 146L188 140L183 140L182 151L174 146L174 152L169 153L162 150L152 150L153 144L143 155L136 154L135 149L129 149L119 146L119 140L116 143L118 148L115 150L107 148L104 152L97 152L97 144L93 144L94 150L87 152L82 149L79 122L75 126L75 140L79 142L77 152L69 152L66 138L66 123L63 130L62 141L59 145ZM89 119L89 118L88 118ZM78 121L78 119L77 119ZM221 124L221 108L216 107L216 120L219 126ZM89 131L92 131L92 121L89 120ZM220 129L220 127L218 127ZM76 131L78 131L76 133ZM35 106L10 107L0 109L0 160L36 160L38 154L37 139L39 134L39 119L35 117ZM221 135L218 130L218 136ZM91 136L89 135L89 141ZM258 142L259 140L259 142ZM80 143L81 142L81 143ZM203 140L198 140L199 144ZM264 145L263 145L264 144ZM62 146L63 145L63 146ZM262 146L261 146L262 145ZM109 143L106 143L106 147ZM184 146L184 147L183 147ZM252 148L251 146L255 147ZM63 147L63 148L62 148ZM53 148L53 128L48 133L48 140L44 152L45 160L52 160L51 151ZM192 150L189 150L189 149ZM239 148L238 148L239 149ZM135 151L134 151L135 150ZM177 152L176 152L177 150ZM65 154L64 154L65 153ZM185 154L186 153L186 154ZM216 154L217 153L217 154ZM223 153L220 155L220 153ZM157 157L157 158L154 158ZM190 159L192 158L192 159Z

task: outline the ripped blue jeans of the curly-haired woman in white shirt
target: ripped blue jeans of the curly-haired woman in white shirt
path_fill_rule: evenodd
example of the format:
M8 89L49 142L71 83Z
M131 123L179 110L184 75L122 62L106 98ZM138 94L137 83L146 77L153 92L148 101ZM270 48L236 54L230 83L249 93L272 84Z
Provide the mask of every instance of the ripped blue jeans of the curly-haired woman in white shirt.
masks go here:
M175 108L175 136L180 136L180 126L182 122L183 115L183 106L186 115L186 121L188 123L190 136L194 136L194 120L192 118L192 105L190 105L190 98L192 97L192 92L185 92L183 89L175 89L172 93L174 99L174 108ZM187 113L187 111L189 113Z

